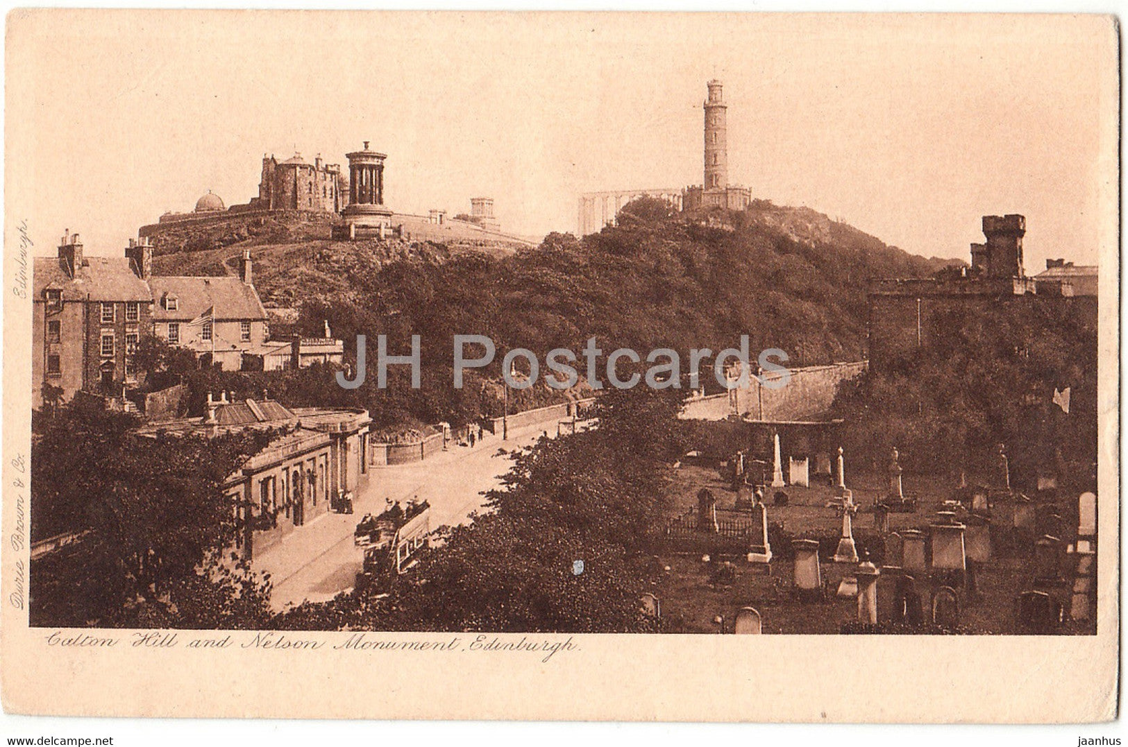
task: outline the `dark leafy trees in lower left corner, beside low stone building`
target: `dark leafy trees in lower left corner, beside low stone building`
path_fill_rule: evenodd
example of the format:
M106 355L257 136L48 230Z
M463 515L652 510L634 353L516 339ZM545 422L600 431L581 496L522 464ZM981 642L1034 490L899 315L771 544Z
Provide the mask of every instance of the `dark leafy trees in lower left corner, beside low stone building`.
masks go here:
M263 579L219 554L236 539L239 508L222 486L272 434L146 438L135 425L80 403L42 420L32 446L32 535L87 534L38 561L33 615L142 626L261 620Z

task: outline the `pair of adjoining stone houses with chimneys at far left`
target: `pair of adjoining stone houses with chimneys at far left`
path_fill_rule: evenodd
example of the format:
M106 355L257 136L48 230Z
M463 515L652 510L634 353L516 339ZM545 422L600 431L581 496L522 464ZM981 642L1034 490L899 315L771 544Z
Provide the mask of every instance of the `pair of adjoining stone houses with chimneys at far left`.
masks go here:
M152 274L152 244L130 241L123 257L86 256L77 233L56 257L33 266L32 401L76 392L121 398L138 383L139 340L148 335L239 370L266 339L266 311L244 251L238 277Z

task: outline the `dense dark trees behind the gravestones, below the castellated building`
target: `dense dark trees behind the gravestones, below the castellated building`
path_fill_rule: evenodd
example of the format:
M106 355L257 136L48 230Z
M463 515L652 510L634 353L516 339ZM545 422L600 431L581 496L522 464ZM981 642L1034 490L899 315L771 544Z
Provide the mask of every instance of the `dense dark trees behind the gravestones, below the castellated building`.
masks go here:
M1005 444L1012 482L1052 466L1087 483L1096 457L1096 314L1034 296L1017 304L950 309L951 330L882 371L843 385L835 413L851 460L883 469L893 446L905 469L969 474L997 464ZM1070 389L1070 411L1051 403Z

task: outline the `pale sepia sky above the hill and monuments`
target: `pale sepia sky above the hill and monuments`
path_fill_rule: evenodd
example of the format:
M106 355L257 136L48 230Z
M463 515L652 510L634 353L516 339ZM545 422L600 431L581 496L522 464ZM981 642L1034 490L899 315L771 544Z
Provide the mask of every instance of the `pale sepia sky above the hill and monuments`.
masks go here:
M344 166L368 140L393 210L490 196L509 231L575 231L583 192L702 183L719 78L730 181L754 197L962 259L980 216L1022 213L1028 272L1095 264L1114 34L1098 17L14 11L9 225L27 221L33 254L69 229L118 255L209 189L256 196L265 153Z

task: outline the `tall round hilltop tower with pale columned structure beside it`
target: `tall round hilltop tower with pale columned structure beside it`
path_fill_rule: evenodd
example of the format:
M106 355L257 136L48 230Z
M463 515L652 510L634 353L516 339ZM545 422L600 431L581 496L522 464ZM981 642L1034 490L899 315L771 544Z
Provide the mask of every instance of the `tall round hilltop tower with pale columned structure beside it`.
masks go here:
M664 199L678 210L723 207L746 210L751 202L751 190L729 184L729 106L724 103L723 83L711 80L702 108L705 112L705 174L699 185L682 189L613 189L588 192L580 195L579 233L587 235L605 225L614 225L619 210L632 199L654 197Z

